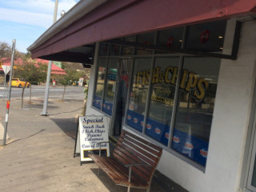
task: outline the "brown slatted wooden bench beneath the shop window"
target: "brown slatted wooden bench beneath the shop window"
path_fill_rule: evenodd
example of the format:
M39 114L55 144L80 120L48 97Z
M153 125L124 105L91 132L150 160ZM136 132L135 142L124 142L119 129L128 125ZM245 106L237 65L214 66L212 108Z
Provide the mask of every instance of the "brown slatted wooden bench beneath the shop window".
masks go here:
M128 192L130 187L146 189L149 192L161 155L161 147L122 130L110 158L101 156L101 152L99 155L89 154L89 157L116 185L127 186Z

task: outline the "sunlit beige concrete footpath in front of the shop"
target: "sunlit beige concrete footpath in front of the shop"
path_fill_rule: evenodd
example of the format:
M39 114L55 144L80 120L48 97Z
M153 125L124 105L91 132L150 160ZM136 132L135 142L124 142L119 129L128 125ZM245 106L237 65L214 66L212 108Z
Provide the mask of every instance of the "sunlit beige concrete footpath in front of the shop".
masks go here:
M126 191L116 186L98 166L74 158L77 117L83 100L49 99L49 116L41 116L42 98L10 101L7 133L10 139L0 146L0 191ZM0 101L0 122L4 125L6 101ZM2 138L0 138L2 145ZM131 189L131 192L146 191ZM156 182L151 191L163 191ZM171 191L171 190L170 190Z

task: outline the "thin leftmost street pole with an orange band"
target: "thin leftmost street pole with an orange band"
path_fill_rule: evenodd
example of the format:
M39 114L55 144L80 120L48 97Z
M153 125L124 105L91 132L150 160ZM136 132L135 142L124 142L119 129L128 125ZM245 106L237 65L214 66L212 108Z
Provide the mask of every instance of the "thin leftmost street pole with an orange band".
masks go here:
M9 118L9 109L10 109L11 80L13 78L13 68L14 68L15 44L16 44L16 40L14 39L13 40L13 50L12 50L12 55L11 55L11 64L10 64L9 94L8 94L8 99L7 99L7 104L6 104L6 122L5 122L4 132L3 132L2 146L6 145L6 135L7 135L7 126L8 126L8 118Z

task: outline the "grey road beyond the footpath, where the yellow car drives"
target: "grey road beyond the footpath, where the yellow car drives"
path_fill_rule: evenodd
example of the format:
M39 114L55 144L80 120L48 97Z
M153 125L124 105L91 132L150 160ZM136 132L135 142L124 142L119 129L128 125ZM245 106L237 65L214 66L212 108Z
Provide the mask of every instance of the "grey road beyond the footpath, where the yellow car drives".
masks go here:
M44 98L45 97L45 86L31 86L31 97ZM64 86L56 86L50 87L49 98L62 99ZM65 98L84 98L83 93L84 87L80 86L67 86L65 91ZM5 93L4 93L5 92ZM8 87L4 91L3 86L0 86L0 99L3 99L3 95L5 94L5 98L9 93ZM11 98L21 98L22 97L22 88L11 88ZM30 97L30 89L26 88L24 92L24 98Z

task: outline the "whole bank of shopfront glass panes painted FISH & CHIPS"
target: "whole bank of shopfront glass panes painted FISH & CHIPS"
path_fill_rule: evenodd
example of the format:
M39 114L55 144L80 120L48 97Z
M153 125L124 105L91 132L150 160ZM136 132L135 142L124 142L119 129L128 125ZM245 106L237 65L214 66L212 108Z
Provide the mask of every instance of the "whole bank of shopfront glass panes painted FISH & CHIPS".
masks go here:
M102 43L93 105L112 115L117 99L114 96L120 94L115 93L118 61L120 57L129 58L133 61L133 74L130 92L127 91L126 126L201 168L206 166L221 58L185 54L177 57L170 51L152 48L170 47L182 52L181 46L186 42L185 50L221 55L226 21L186 26L186 37L184 29L122 38L127 43L118 46ZM128 81L126 77L122 76Z

